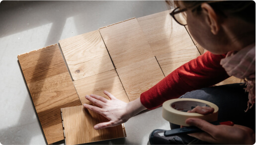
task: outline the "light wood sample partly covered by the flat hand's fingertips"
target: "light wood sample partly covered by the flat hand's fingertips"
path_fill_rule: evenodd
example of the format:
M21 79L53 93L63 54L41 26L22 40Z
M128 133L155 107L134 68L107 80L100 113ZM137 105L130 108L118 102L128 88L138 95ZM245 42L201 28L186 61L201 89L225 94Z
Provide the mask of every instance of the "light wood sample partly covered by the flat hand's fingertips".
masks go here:
M128 103L129 99L115 70L99 73L74 82L82 104L91 104L85 95L95 94L109 99L103 91L106 90L116 98Z

